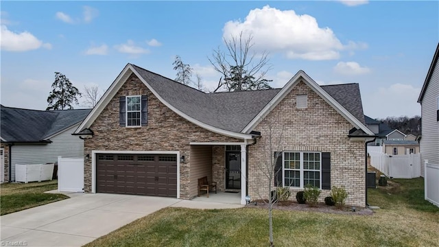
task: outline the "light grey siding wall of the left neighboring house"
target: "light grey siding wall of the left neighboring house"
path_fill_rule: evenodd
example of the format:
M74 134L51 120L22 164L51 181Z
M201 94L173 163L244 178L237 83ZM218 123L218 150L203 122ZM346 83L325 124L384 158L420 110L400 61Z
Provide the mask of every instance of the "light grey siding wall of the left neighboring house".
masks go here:
M15 180L15 165L32 165L44 163L57 163L58 156L65 158L84 157L84 141L79 137L71 135L79 124L67 128L56 134L45 145L21 145L17 143L11 147L11 180Z

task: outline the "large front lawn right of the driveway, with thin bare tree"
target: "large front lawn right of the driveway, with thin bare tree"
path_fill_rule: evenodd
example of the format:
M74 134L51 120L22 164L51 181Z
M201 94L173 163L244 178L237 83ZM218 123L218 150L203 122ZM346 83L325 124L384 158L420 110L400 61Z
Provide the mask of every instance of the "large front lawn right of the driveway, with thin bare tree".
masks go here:
M374 215L274 211L276 246L436 246L439 208L423 200L423 179L369 189ZM422 195L422 196L420 196ZM269 246L268 211L167 208L86 246Z

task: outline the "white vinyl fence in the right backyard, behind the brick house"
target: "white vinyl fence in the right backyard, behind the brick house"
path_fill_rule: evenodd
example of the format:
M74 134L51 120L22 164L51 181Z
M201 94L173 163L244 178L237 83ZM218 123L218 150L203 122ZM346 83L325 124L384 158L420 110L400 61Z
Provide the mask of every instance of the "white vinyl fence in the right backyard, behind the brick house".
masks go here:
M388 155L369 152L370 165L390 178L418 178L420 154Z

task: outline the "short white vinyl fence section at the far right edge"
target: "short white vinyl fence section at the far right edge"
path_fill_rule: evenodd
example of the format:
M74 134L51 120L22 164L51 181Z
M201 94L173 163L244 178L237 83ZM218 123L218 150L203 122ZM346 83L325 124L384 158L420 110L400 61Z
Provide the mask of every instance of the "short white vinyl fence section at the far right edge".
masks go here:
M439 165L428 163L427 160L424 165L425 200L439 207Z

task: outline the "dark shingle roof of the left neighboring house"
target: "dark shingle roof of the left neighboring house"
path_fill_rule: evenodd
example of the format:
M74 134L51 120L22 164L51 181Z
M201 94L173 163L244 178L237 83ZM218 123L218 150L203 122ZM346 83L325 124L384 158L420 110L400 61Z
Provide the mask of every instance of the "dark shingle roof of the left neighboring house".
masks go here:
M90 113L91 109L29 110L1 107L1 138L8 142L41 142L69 128Z

